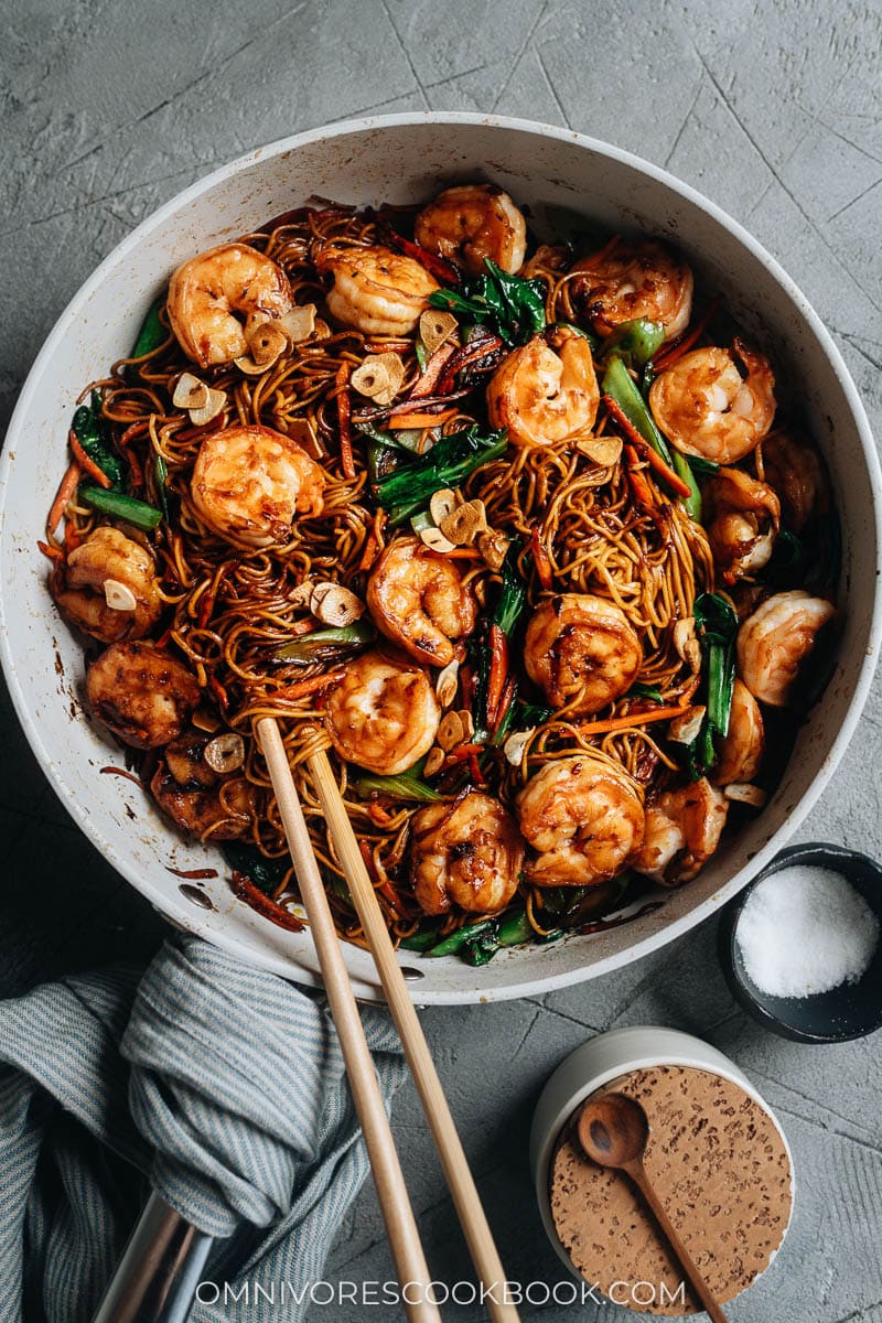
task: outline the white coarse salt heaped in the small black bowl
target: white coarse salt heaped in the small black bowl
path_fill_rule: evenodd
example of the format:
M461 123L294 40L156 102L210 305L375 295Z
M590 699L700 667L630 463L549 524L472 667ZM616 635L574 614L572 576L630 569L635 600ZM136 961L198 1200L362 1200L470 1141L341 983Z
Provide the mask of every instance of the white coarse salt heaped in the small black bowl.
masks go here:
M737 931L760 992L804 998L857 983L873 959L879 921L841 873L793 865L756 884Z

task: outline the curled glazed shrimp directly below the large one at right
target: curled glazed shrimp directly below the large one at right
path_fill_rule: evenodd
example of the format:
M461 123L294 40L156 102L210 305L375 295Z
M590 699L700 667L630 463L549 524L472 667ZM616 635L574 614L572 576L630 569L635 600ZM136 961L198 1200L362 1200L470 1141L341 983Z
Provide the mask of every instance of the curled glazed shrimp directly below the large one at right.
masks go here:
M767 565L782 504L768 486L741 468L721 468L705 486L707 540L727 583Z

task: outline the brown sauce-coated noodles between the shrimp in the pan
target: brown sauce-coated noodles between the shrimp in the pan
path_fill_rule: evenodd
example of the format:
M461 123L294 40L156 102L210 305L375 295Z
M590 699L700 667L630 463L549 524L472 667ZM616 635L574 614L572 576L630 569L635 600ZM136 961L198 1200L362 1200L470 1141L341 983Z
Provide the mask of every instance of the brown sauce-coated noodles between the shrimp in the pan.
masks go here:
M383 229L373 213L360 216L348 208L329 206L291 213L241 242L283 269L298 304L315 302L321 312L325 282L316 262L323 254L360 250L382 241ZM549 324L579 320L578 273L561 270L559 251L540 250L528 271L546 287ZM168 325L165 314L163 319ZM319 750L329 751L380 904L393 935L401 939L411 938L423 917L406 868L413 818L419 806L360 794L352 783L353 773L332 746L323 717L328 685L323 687L317 677L342 675L346 658L303 663L280 654L292 640L308 639L316 628L316 620L295 589L305 579L336 579L364 597L366 574L393 536L372 496L368 438L357 423L352 429L354 478L346 476L337 413L337 396L348 389L349 372L361 364L365 353L383 352L390 345L403 364L399 392L403 398L421 376L417 337L372 337L356 329L335 329L321 316L311 339L288 345L266 370L246 376L230 364L208 373L212 389L226 393L226 426L258 425L294 437L324 470L321 513L298 516L290 541L262 549L216 536L193 503L193 466L205 437L217 430L218 421L193 426L186 413L171 406L177 377L192 370L171 329L153 352L138 360L120 359L110 376L93 388L100 393L102 414L112 426L119 455L130 466L130 490L144 501L168 505L172 511L172 517L151 534L157 589L165 611L161 642L185 659L196 676L202 693L197 714L202 729L210 730L214 724L216 730L238 732L245 741L241 771L220 787L223 816L208 827L202 839L223 836L233 824L239 840L250 843L267 859L287 857L266 765L253 737L258 720L274 717L283 734L337 926L353 942L362 942L362 934L305 770L307 761ZM345 369L342 374L341 369ZM465 402L456 402L455 417L443 423L442 435L452 435L472 423L487 430L483 411L487 378L473 380L481 389L468 400L479 411L464 411ZM421 406L422 401L415 400L415 410ZM354 401L353 409L356 417L360 411L365 417L370 414L364 401ZM602 413L595 435L604 435L606 427L607 418ZM414 442L417 452L424 452L435 435L423 425ZM694 667L684 660L676 626L693 617L700 594L714 591L714 556L701 524L666 495L651 468L629 460L627 450L625 446L615 462L599 464L588 456L582 442L571 439L509 448L504 458L472 472L463 484L463 495L483 503L491 528L520 538L517 564L526 586L528 615L543 595L547 597L536 556L530 553L530 540L538 536L554 590L595 594L614 603L643 646L641 685L657 689L655 701L674 708L680 704L685 709L698 677ZM759 450L755 463L762 476ZM644 484L640 490L651 493L648 507L635 495L639 482ZM82 544L100 523L82 501L69 504L66 513L63 544L49 537L49 546L61 546L65 553ZM477 552L472 558L463 552L455 564L479 603L495 598L500 572L485 564ZM316 683L311 685L309 681ZM615 724L615 718L645 710L647 704L645 697L627 692L583 718L577 696L549 720L540 721L526 737L520 767L512 766L501 749L488 745L481 781L510 808L518 790L540 767L567 755L590 755L600 766L627 774L641 794L664 787L680 765L665 745L664 733L651 720L645 725L591 733L592 724ZM152 766L152 757L147 758L145 767ZM455 767L446 766L436 779L438 790L456 796L463 778L469 777L469 766L473 773L477 763L464 761ZM243 803L250 807L243 810ZM522 880L520 892L532 929L540 937L549 934L555 923L547 917L545 889ZM296 898L290 867L271 894L286 904ZM480 916L454 906L440 916L436 934L443 938L476 917Z

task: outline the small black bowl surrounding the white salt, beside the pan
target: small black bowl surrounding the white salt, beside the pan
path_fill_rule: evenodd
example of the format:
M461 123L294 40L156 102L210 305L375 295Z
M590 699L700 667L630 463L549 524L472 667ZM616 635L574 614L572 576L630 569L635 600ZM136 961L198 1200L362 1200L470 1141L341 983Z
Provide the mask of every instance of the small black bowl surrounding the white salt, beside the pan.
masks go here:
M867 855L842 845L791 845L744 888L725 910L719 925L719 960L735 1000L772 1033L795 1043L848 1043L882 1028L882 941L857 983L805 998L770 996L747 976L737 941L738 921L754 886L792 864L809 864L841 873L865 898L882 923L882 868ZM787 934L782 934L787 941Z

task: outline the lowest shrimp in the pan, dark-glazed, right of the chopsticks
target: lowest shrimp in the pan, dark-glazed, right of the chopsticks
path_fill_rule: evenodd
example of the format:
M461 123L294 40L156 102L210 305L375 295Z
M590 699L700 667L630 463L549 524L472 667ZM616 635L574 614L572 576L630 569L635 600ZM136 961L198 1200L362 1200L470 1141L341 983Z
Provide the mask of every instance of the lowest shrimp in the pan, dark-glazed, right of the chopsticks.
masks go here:
M414 815L411 878L424 914L452 905L479 914L505 909L517 890L524 840L497 799L467 790Z

